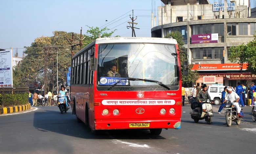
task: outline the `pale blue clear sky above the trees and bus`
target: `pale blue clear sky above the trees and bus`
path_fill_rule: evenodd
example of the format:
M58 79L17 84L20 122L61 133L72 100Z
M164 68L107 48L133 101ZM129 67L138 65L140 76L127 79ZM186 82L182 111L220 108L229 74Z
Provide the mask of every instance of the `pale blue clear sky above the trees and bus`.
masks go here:
M219 0L210 0L210 3ZM152 6L153 2L153 6ZM151 12L161 6L160 0L0 0L0 48L18 48L22 57L24 46L53 31L86 34L90 27L107 27L113 36L130 37L128 21L134 10L138 23L137 37L151 37ZM156 14L157 15L157 14ZM106 21L107 20L107 21Z

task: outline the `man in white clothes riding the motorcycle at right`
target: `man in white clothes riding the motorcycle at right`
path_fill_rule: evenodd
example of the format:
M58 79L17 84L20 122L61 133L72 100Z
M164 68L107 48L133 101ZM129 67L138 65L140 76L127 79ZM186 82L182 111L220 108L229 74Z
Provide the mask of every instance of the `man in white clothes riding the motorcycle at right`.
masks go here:
M237 117L241 117L240 116L241 107L238 104L239 100L240 100L240 97L238 96L238 94L236 92L234 92L232 90L232 87L227 87L227 95L225 97L225 102L226 101L231 101L232 102L232 104L236 108Z

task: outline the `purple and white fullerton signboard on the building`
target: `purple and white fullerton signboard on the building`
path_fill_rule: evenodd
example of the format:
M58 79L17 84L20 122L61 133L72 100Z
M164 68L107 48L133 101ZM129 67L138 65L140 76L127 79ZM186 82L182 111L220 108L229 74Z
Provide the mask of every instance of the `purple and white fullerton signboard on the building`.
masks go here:
M218 41L218 33L191 35L191 44L218 43Z

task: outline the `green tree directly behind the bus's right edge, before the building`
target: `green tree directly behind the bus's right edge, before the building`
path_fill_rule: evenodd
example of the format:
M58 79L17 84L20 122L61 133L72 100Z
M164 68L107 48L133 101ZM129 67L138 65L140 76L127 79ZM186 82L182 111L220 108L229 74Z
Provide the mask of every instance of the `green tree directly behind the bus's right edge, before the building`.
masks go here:
M165 38L172 37L177 40L178 47L181 50L180 53L180 63L181 63L181 82L184 87L192 87L192 84L196 82L196 80L199 78L199 74L197 73L197 70L192 71L191 68L193 67L193 64L190 64L188 66L188 76L183 75L183 61L187 60L187 50L184 47L183 36L181 35L181 32L179 31L172 31L171 33L168 33Z

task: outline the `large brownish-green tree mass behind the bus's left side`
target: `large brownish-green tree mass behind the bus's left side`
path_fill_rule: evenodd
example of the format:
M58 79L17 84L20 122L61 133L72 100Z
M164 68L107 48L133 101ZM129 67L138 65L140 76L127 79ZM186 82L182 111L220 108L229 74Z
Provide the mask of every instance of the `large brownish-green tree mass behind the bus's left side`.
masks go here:
M88 26L89 27L89 26ZM94 41L98 36L110 37L114 31L107 33L107 28L98 27L87 31L89 35L82 35L83 47ZM74 38L80 38L80 34L74 33ZM57 86L56 54L58 53L58 81L65 83L68 67L71 66L71 46L68 39L72 38L72 32L54 31L51 37L39 37L32 42L30 47L25 47L26 56L21 64L13 69L13 85L21 86L34 84L35 82L44 83L44 72L47 71L48 89L52 90ZM78 40L79 42L80 40ZM73 47L73 52L77 53L79 46ZM44 70L44 58L47 55L48 69Z

